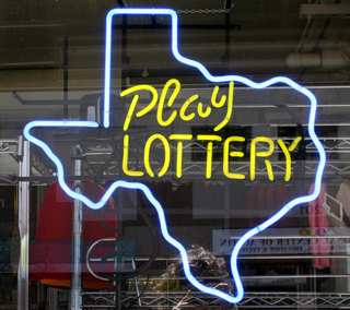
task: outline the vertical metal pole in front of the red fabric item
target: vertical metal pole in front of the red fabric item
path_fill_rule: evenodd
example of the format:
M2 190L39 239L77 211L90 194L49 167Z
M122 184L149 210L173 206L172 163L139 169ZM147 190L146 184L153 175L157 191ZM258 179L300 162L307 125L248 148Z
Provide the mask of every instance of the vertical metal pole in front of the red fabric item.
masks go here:
M74 159L74 176L81 176L81 148L77 146ZM74 191L82 192L81 180L74 181ZM81 305L81 251L82 251L82 202L73 202L73 223L72 223L72 276L71 276L71 298L70 309L79 310Z

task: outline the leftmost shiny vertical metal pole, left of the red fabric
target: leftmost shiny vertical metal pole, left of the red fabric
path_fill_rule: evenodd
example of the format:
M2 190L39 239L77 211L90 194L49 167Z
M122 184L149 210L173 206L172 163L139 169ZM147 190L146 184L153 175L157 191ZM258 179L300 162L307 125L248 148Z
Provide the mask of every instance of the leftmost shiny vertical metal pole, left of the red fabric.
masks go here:
M23 144L22 144L23 143ZM19 150L23 155L20 160L20 177L30 176L30 142L19 139ZM30 182L19 182L19 228L20 228L20 263L18 271L18 310L26 310L30 306L28 260L30 260Z

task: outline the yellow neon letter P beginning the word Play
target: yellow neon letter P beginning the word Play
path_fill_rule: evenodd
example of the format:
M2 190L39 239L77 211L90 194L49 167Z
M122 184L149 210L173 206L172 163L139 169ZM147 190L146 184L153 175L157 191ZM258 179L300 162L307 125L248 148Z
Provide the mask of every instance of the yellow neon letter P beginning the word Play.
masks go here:
M145 108L143 108L142 110L137 112L137 115L136 115L137 117L141 117L141 116L144 116L145 114L148 114L151 109L153 109L153 107L155 106L155 104L158 102L158 92L154 87L152 87L150 85L138 85L138 86L133 86L128 90L125 90L124 92L120 93L120 97L127 96L131 93L139 92L139 91L150 91L153 95L153 98L152 98L152 102ZM122 127L124 131L127 131L129 128L131 117L133 115L133 111L135 111L136 105L139 100L139 97L140 97L139 95L135 95L132 98L132 102L129 107L126 120L124 122L124 127Z

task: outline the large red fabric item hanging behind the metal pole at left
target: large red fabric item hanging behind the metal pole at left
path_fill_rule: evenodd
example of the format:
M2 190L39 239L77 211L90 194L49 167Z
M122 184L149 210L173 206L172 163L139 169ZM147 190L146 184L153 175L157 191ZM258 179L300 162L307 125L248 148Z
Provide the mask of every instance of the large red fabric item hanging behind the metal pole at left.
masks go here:
M67 182L72 187L72 182ZM84 182L84 195L91 199L93 182ZM100 200L105 190L97 188L96 200ZM113 200L109 199L105 208L114 208ZM36 230L36 241L31 245L30 254L30 279L40 281L48 279L58 285L61 281L66 286L67 281L71 278L71 239L72 239L72 210L73 201L60 188L58 182L52 183L47 190L42 203L38 215L38 227ZM101 218L110 227L117 227L115 214L101 214ZM85 254L92 242L102 238L116 238L116 234L104 228L96 219L92 211L83 205L83 249L82 249L82 281L83 287L89 288L109 288L112 283L103 282L95 278L86 269L84 262ZM105 254L115 250L114 242L102 242L96 246L92 258L103 258ZM98 272L98 263L92 264L93 271ZM107 270L109 270L106 266ZM92 285L93 284L93 285Z

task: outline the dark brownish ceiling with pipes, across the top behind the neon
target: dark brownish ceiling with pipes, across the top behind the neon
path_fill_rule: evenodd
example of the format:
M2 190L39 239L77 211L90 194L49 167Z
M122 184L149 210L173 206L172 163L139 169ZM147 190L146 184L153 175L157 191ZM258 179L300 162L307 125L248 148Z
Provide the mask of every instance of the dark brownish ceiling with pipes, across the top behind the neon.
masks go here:
M289 74L305 84L343 84L348 83L350 72L350 20L346 13L335 13L334 8L347 10L349 2L232 0L230 13L222 11L224 1L139 0L126 1L126 4L178 11L180 52L201 61L213 73L231 72L254 80ZM68 37L70 90L101 90L105 15L120 3L3 0L1 90L62 88L65 36ZM322 14L328 11L329 14ZM128 24L139 23L128 21ZM144 69L150 80L184 74L170 61L167 36L164 29L128 29L130 83L141 79ZM120 62L116 62L115 68L119 67ZM185 72L185 75L196 79L194 72Z

